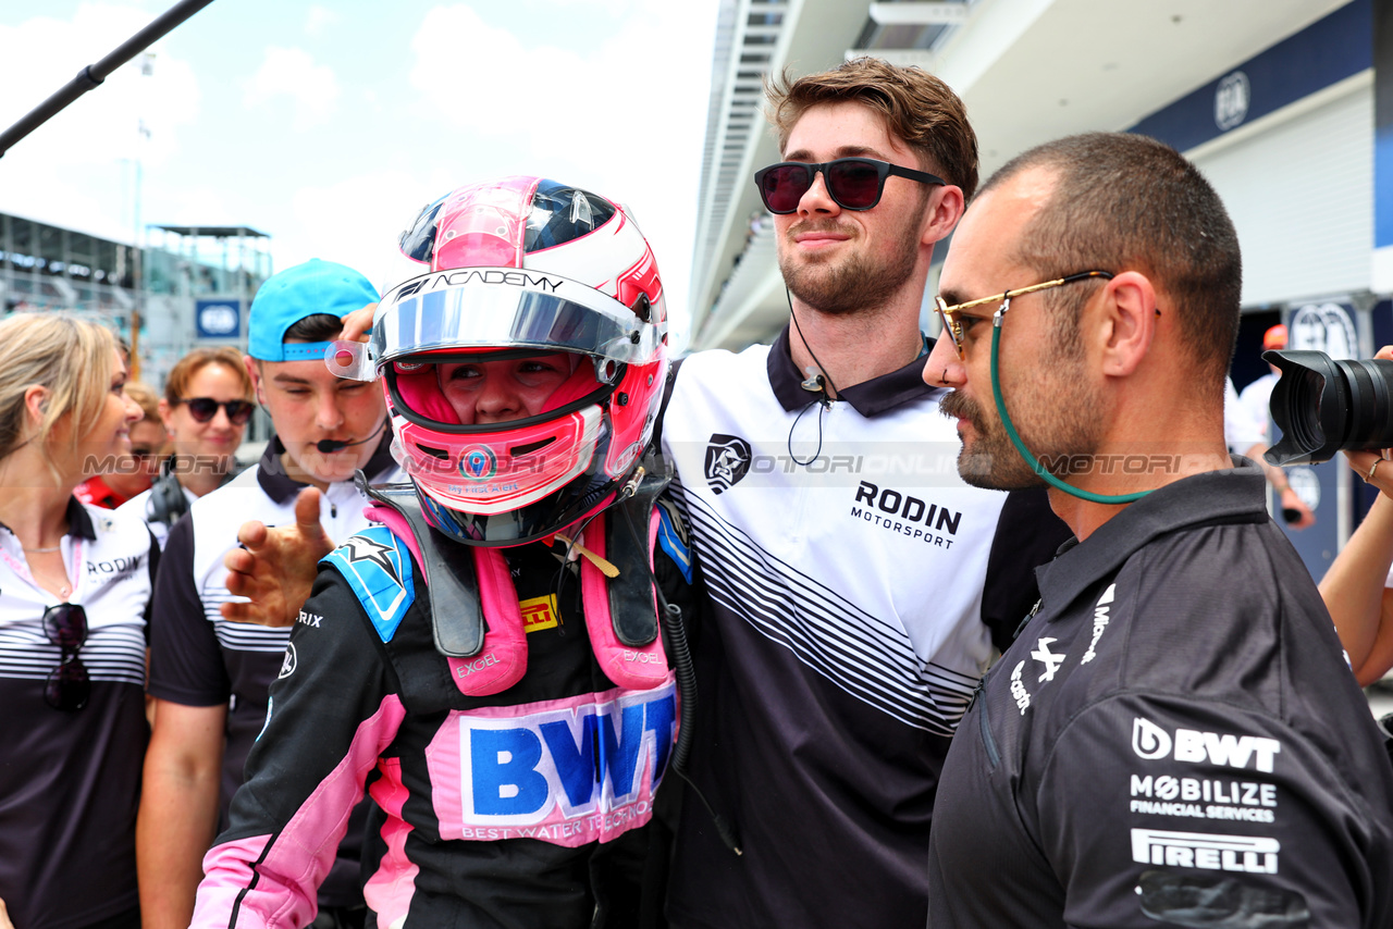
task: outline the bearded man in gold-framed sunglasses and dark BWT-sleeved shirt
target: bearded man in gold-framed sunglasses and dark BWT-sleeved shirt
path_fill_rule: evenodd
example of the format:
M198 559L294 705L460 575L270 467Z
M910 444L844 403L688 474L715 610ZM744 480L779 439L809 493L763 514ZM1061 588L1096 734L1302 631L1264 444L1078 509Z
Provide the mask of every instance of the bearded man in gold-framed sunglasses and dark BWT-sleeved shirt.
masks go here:
M1330 617L1230 458L1241 259L1173 149L1092 134L958 227L924 366L958 468L1071 540L943 767L929 926L1387 926L1393 769Z

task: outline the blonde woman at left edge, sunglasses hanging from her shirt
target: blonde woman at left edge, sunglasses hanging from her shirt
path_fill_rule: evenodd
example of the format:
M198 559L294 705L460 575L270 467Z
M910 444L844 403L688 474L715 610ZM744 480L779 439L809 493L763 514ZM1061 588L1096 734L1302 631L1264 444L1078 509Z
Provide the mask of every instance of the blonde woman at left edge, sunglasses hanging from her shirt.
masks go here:
M14 923L139 926L146 604L139 520L82 504L141 408L111 334L0 322L0 898Z

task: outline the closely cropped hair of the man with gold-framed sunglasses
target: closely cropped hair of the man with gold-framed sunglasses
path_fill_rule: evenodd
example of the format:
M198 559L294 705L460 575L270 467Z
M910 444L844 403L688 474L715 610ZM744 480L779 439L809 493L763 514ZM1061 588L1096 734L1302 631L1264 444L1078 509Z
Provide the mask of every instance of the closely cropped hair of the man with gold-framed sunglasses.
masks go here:
M1211 377L1205 389L1222 390L1238 337L1243 258L1209 181L1156 139L1088 132L1017 155L982 192L1031 169L1050 171L1055 189L1022 230L1017 258L1042 280L1085 270L1142 272L1174 301L1191 357ZM1077 338L1080 312L1094 292L1087 286L1055 292L1061 330L1073 326Z

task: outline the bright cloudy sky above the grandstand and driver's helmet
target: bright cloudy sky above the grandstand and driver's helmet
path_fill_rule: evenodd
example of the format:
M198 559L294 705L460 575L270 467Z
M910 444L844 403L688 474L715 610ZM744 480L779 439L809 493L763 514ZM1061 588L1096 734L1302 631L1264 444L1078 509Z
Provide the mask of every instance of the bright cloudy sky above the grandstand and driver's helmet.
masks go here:
M0 3L0 125L173 0ZM545 174L637 213L685 325L717 0L216 0L0 159L0 212L245 224L379 286L425 202ZM36 13L42 10L42 14ZM142 136L139 125L148 128Z

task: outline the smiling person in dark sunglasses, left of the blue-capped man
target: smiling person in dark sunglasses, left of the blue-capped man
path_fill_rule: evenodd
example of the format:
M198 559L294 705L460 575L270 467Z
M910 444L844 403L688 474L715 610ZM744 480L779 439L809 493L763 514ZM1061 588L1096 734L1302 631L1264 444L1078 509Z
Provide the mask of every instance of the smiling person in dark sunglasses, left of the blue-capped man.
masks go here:
M148 493L125 504L164 547L188 504L237 475L237 448L252 411L252 380L235 348L195 348L170 369L160 418L170 457Z

